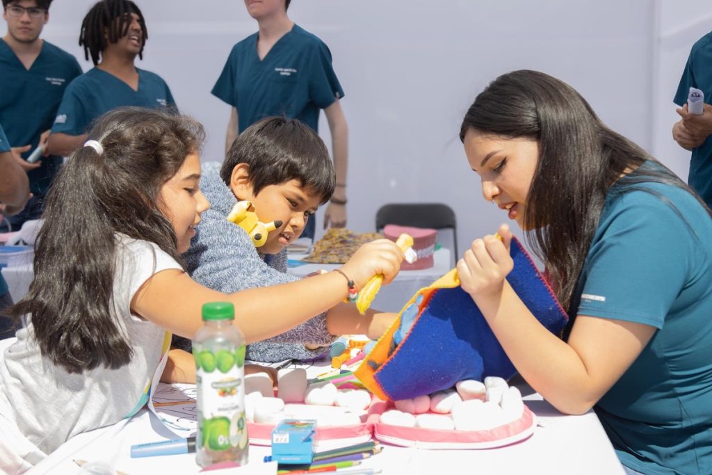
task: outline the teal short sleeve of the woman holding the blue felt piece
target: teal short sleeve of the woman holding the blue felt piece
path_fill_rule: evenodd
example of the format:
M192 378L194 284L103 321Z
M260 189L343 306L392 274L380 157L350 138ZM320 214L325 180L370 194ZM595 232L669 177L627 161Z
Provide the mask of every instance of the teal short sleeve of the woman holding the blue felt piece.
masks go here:
M695 239L671 206L646 192L620 199L586 258L579 315L663 327L686 281Z

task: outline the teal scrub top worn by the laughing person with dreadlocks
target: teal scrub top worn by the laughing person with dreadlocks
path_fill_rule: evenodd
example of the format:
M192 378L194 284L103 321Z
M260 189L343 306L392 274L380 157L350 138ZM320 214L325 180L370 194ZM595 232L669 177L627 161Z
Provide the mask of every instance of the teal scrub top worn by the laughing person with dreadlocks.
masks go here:
M138 90L115 75L92 68L72 81L57 110L52 133L82 135L96 118L120 107L175 108L168 85L150 71L138 71Z

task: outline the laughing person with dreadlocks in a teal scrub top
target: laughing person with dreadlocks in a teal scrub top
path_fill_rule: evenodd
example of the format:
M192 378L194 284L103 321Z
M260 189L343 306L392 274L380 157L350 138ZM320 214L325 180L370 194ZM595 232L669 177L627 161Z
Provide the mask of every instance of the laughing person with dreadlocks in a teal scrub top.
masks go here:
M146 21L130 0L98 1L84 17L79 45L94 68L68 86L52 125L47 149L69 155L86 140L96 118L122 106L172 107L168 85L157 74L139 69L148 39Z

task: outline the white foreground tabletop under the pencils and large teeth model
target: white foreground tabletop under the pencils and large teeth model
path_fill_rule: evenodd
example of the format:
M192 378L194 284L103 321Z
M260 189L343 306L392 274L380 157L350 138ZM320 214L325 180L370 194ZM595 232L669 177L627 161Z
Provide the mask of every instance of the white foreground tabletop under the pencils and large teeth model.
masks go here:
M327 363L323 363L327 364ZM318 374L323 367L311 367ZM528 387L525 400L540 421L532 437L498 449L426 450L383 444L380 454L365 459L362 468L382 469L384 475L488 473L525 474L623 474L622 466L594 412L582 416L565 416L557 412ZM158 419L142 409L130 421L120 422L80 434L63 444L31 472L32 474L76 474L74 459L106 461L129 475L197 474L195 454L131 459L133 444L173 439ZM274 469L261 463L270 454L269 447L250 446L250 464L239 471L208 472L222 474L274 474ZM271 469L271 471L269 470Z

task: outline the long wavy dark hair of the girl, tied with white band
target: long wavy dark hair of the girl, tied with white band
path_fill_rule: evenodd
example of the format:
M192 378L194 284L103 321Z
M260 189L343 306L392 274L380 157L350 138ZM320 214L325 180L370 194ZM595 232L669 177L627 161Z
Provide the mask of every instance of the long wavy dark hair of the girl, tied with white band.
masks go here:
M58 174L42 214L34 279L8 312L30 315L41 353L74 373L130 361L112 301L117 234L151 241L182 262L159 193L199 152L204 131L167 110L122 108L101 116L89 139L103 152L80 147Z

